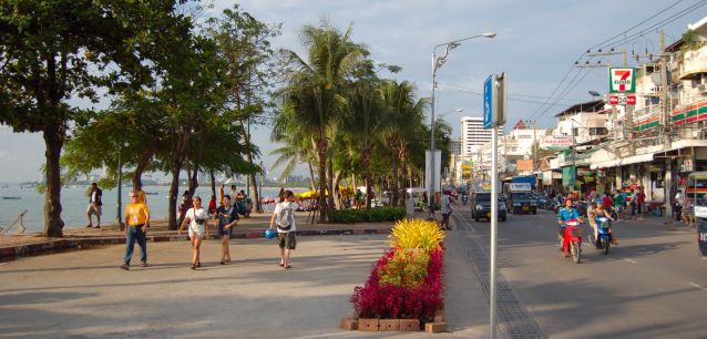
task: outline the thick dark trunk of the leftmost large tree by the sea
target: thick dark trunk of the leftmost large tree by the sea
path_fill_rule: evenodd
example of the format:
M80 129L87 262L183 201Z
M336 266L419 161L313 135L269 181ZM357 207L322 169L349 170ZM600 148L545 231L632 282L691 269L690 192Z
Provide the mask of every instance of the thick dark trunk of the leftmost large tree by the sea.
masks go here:
M63 237L64 222L61 219L61 148L64 129L49 125L44 129L44 156L47 158L47 192L44 193L44 236Z

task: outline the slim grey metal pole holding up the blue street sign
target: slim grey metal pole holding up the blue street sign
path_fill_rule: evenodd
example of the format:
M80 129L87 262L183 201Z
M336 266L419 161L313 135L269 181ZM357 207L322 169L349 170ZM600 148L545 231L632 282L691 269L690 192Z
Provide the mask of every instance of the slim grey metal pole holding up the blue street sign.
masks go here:
M496 125L491 129L491 296L489 296L490 305L490 330L491 339L495 339L495 325L496 325L496 286L495 286L495 269L496 269L496 242L498 242L498 227L499 227L499 135L496 133Z

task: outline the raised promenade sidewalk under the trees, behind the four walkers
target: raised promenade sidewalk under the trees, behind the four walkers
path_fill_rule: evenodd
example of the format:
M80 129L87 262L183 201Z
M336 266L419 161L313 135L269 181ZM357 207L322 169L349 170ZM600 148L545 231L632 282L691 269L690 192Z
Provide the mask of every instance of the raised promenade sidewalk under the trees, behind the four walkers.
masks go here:
M269 226L271 214L252 214L250 218L242 218L234 228L232 239L262 238L263 233ZM216 225L211 224L212 239L216 239ZM300 236L314 235L363 235L388 234L392 223L377 224L309 224L304 214L297 216L297 234ZM147 233L151 242L177 242L186 240L186 232L177 236L176 230L167 229L167 220L155 220ZM63 238L45 238L41 234L7 235L0 236L0 263L14 260L21 257L51 254L68 249L81 249L93 246L124 244L125 237L122 230L115 226L104 225L95 228L64 229Z

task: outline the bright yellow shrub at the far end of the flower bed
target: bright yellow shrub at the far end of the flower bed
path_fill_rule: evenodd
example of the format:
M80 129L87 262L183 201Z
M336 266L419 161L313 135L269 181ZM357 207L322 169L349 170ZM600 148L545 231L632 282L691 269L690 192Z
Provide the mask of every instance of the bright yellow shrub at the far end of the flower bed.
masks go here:
M423 248L432 251L440 247L444 233L433 220L402 219L390 232L393 248Z

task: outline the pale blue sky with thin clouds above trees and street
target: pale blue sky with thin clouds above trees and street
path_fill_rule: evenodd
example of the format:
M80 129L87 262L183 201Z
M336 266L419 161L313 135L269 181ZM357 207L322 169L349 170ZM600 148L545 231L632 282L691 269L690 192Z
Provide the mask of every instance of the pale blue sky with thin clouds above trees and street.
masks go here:
M236 1L211 3L206 16L218 16ZM460 135L462 115L481 116L481 86L491 73L506 72L509 76L506 131L521 119L552 127L556 113L592 100L588 91L608 91L605 68L575 68L575 61L622 63L621 55L584 55L587 49L596 52L597 44L617 37L603 43L603 51L614 47L629 55L658 53L658 29L665 31L669 45L688 23L707 16L706 0L248 0L238 4L262 22L281 23L281 35L271 40L274 48L300 54L299 33L305 24L328 20L341 31L351 25L354 42L368 47L375 61L402 68L397 74L383 75L413 82L420 97L431 96L436 45L495 32L494 39L462 42L437 72L437 116L453 126L454 137ZM437 51L438 55L444 52L443 48ZM634 60L631 65L635 65ZM555 89L555 95L547 100ZM463 112L457 112L459 109ZM269 152L277 145L269 142L269 126L255 127L253 134L263 162L270 168L275 158ZM40 179L39 168L44 163L41 134L12 133L0 126L0 182ZM303 168L297 172L305 174ZM270 176L278 174L274 168Z

